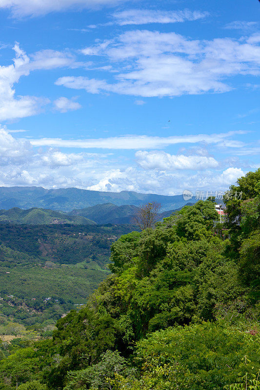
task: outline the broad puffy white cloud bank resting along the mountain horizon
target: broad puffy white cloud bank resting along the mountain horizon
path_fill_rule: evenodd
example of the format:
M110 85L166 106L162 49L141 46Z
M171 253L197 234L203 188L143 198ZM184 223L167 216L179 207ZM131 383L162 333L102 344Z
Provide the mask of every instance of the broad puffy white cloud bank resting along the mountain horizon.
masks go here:
M144 166L149 169L143 169L141 166L127 166L113 155L65 153L52 148L44 151L34 148L29 140L15 139L6 128L1 128L0 186L78 187L100 191L128 190L176 195L181 194L184 188L193 192L204 189L225 190L244 174L241 168L234 165L221 170L220 166L215 167L216 163L210 157L171 156L161 152L157 152L162 159L158 159L155 167L150 158L154 153L137 154L140 161L146 158L147 164L150 164ZM203 171L198 169L202 162L208 164ZM187 174L186 170L178 169L182 168L180 164L185 164L190 170L196 167L196 172L193 175ZM172 168L176 172L170 172Z

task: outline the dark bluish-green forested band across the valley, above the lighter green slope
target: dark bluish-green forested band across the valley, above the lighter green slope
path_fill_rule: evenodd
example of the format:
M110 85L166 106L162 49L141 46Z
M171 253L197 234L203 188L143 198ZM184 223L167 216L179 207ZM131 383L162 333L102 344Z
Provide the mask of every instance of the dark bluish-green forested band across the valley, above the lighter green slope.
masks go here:
M0 224L0 243L8 248L0 257L0 265L12 267L51 261L57 264L84 262L84 266L89 261L95 261L103 268L108 262L111 244L131 230L132 226L128 225Z

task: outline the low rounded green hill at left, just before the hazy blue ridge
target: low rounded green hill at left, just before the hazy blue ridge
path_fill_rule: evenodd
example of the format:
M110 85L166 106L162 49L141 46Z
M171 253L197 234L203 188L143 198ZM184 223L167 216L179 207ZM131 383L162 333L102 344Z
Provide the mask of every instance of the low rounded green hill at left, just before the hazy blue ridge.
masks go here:
M32 208L29 210L21 210L18 207L13 207L10 210L0 210L0 222L10 223L26 223L29 225L48 225L48 224L64 224L73 223L77 225L93 225L94 221L85 218L84 216L68 215L53 210Z

